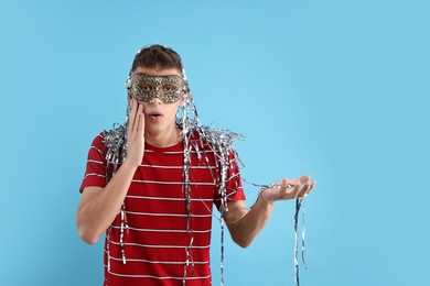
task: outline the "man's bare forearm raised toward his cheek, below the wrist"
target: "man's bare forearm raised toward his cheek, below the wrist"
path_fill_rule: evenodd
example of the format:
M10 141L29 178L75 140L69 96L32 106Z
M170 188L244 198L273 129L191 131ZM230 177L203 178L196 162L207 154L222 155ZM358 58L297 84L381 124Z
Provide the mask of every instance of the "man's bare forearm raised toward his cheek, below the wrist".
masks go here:
M83 194L76 213L79 237L94 244L109 228L121 209L136 167L123 164L103 189L88 189Z

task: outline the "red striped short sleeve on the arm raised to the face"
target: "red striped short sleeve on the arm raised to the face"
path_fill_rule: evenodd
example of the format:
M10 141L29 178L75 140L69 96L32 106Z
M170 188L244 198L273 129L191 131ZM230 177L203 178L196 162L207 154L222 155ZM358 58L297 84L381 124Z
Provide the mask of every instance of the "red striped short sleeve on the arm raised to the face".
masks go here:
M80 185L82 193L86 187L101 187L106 186L106 146L103 143L103 133L93 140L92 146L88 151L87 166L85 176Z

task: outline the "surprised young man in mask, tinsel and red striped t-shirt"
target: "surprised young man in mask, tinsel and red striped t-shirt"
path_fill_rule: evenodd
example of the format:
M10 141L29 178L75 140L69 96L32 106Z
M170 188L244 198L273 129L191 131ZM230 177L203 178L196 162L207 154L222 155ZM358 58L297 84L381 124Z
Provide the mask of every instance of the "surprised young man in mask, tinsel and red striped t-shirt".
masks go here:
M213 205L247 248L275 201L302 198L315 182L282 179L248 210L237 154L225 141L232 134L190 119L195 107L180 56L161 45L141 50L127 87L127 122L101 132L88 153L79 237L94 244L106 232L105 285L211 285Z

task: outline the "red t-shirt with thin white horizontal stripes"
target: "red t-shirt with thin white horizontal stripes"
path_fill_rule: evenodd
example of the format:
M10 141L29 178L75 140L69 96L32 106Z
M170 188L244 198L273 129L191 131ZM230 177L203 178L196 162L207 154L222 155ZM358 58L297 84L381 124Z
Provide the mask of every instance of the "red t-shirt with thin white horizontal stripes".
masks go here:
M219 180L214 176L218 176L219 164L207 145L201 160L192 152L189 218L183 189L183 150L182 142L170 147L146 144L142 163L125 199L122 222L127 221L128 228L121 240L118 213L106 233L105 285L183 285L184 279L186 285L211 285L212 211L214 204L217 208L221 204ZM80 190L106 186L106 152L101 133L89 150ZM228 168L227 178L228 199L245 200L235 162Z

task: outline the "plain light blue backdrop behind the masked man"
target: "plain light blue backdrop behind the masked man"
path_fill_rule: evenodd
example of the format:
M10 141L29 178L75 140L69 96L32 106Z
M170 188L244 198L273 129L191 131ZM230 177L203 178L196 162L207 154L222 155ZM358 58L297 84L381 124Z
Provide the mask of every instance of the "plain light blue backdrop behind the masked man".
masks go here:
M1 1L1 285L101 285L74 216L93 138L122 122L137 50L183 57L243 175L311 174L302 285L430 285L428 1ZM258 191L246 186L248 205ZM226 285L293 285L293 201ZM218 227L213 282L219 285Z

